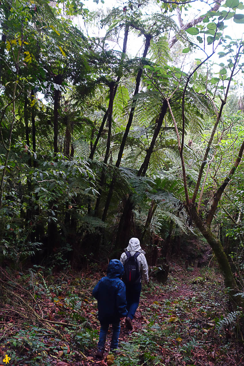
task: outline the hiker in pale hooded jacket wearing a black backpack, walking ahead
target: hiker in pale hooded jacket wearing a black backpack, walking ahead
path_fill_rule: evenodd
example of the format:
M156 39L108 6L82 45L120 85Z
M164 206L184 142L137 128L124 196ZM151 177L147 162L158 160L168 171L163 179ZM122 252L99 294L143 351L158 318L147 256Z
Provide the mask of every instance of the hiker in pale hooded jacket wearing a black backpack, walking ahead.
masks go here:
M139 305L140 292L142 290L142 277L146 284L149 282L148 265L145 252L140 247L137 238L131 238L125 252L121 254L120 262L124 265L122 280L126 287L126 301L128 314L125 318L125 326L132 330L132 320Z

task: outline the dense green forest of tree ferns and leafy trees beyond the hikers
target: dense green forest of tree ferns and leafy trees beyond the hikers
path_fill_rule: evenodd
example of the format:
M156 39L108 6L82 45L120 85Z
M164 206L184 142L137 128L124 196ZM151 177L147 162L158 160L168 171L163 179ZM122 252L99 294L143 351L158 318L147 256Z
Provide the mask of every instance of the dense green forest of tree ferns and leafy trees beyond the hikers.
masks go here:
M1 298L11 303L5 284L21 269L12 286L35 278L42 289L28 296L37 304L43 292L49 303L63 290L46 285L47 269L95 272L131 236L166 280L171 255L199 240L213 252L240 335L244 41L230 25L241 29L244 5L86 5L0 4ZM196 244L186 268L199 255Z

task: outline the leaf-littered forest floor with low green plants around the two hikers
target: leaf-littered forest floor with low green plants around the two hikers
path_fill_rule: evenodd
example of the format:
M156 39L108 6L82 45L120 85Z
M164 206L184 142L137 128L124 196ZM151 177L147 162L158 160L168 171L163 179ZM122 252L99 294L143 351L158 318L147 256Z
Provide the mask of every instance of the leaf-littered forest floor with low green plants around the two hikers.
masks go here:
M218 271L170 268L166 284L150 278L143 285L130 334L121 322L121 354L107 357L109 332L102 361L95 358L99 322L91 291L103 272L1 269L0 365L5 354L19 366L244 365L233 332L238 314L227 315Z

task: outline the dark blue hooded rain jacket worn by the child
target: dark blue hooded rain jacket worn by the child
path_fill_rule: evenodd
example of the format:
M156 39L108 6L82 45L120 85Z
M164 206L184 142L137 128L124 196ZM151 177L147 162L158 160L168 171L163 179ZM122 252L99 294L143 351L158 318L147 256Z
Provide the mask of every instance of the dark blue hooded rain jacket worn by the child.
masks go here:
M107 276L102 277L93 289L97 299L98 319L101 323L119 322L127 315L125 284L120 277L124 273L123 264L118 259L109 262Z

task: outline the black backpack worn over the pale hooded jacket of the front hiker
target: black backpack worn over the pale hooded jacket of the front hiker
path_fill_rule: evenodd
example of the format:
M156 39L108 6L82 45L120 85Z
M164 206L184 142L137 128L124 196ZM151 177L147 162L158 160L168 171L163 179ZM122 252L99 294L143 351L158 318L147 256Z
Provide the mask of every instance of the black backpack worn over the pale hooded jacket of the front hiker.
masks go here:
M140 252L136 252L134 255L131 255L129 251L125 252L127 258L124 262L124 275L122 280L125 284L135 285L140 283L141 275L139 272L139 265L137 257Z

